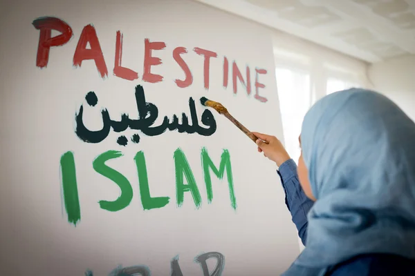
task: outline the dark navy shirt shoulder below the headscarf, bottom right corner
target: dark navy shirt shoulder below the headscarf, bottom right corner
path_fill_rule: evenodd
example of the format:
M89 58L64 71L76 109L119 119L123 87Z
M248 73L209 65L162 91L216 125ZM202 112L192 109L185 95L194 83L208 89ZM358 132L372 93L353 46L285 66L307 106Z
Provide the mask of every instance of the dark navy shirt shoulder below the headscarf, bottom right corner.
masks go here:
M415 259L391 254L366 254L334 266L327 276L415 275Z

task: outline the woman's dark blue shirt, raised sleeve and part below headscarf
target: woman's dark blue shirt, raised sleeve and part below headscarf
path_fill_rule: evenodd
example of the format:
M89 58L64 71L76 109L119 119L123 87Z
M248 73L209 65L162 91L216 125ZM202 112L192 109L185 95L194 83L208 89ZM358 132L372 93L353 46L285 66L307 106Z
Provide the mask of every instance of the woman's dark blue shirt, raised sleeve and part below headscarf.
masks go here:
M314 202L302 190L297 165L293 159L284 162L277 170L285 192L285 202L304 246L307 241L307 214ZM390 254L365 254L329 268L326 276L413 276L415 260Z

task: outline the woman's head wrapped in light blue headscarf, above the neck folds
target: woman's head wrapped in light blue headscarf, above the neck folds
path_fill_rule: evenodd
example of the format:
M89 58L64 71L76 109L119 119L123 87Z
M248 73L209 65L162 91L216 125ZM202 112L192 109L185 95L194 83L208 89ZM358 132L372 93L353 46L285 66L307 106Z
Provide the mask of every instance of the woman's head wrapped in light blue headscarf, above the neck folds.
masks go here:
M318 101L304 117L299 140L299 180L311 199L361 186L360 177L374 170L379 171L370 173L368 185L390 166L415 168L414 123L395 103L369 90L353 88Z

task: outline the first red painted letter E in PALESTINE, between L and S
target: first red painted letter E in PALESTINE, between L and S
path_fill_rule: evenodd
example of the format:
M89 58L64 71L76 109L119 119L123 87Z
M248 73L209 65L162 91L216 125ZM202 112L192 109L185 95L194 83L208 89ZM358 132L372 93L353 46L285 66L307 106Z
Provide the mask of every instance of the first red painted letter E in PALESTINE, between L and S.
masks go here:
M166 47L164 42L150 42L149 39L144 39L144 73L142 74L142 80L156 83L163 81L163 77L156 74L151 74L151 66L161 64L161 59L151 56L151 50L163 50Z

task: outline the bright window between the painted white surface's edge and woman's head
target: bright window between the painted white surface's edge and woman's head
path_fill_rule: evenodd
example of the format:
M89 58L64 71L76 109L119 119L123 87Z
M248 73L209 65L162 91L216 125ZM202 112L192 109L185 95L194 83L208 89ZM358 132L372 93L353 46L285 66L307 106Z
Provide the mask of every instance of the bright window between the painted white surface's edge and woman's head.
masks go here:
M298 137L302 120L311 105L310 75L292 68L276 68L275 72L285 147L297 162L301 153Z

